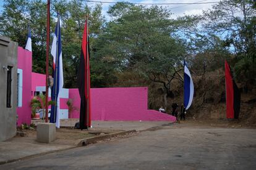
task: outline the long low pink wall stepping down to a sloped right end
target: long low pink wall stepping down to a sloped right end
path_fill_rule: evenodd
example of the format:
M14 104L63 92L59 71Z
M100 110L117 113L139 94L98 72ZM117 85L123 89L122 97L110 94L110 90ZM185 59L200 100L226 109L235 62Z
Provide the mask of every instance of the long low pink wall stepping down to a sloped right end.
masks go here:
M101 121L175 121L176 118L148 110L148 87L93 88L92 120ZM69 118L79 118L78 89L69 89L69 98L77 110Z

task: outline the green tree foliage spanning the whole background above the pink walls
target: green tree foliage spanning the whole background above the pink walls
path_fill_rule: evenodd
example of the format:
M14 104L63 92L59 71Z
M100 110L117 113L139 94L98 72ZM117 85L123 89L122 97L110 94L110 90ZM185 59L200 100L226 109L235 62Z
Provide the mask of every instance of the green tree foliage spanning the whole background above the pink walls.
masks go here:
M150 86L160 89L165 98L174 97L174 88L180 88L183 81L183 59L192 76L220 70L226 59L236 80L255 80L256 9L252 0L223 0L202 15L176 19L164 7L117 2L109 7L108 21L99 4L90 7L82 1L58 0L51 6L51 33L56 11L61 15L64 87L77 87L87 14L92 87ZM5 0L0 15L0 34L19 46L25 46L29 23L33 71L38 73L45 72L45 14L46 1ZM35 99L33 103L35 112L41 102Z

